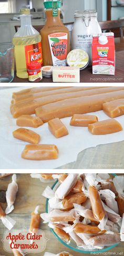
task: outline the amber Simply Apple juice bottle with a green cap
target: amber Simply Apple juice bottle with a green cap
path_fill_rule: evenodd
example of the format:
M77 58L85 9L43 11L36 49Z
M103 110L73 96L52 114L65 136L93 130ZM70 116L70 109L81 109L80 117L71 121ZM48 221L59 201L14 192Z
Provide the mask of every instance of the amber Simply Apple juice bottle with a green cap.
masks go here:
M69 52L69 31L60 20L61 1L45 1L46 24L42 36L43 64L66 66Z

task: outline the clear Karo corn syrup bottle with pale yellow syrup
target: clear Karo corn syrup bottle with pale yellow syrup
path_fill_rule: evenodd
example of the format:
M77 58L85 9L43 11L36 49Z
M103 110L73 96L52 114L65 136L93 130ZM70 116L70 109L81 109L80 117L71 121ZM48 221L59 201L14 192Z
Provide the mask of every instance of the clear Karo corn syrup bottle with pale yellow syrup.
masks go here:
M20 10L21 26L14 35L16 75L28 78L27 65L32 62L43 63L41 36L31 23L29 9Z

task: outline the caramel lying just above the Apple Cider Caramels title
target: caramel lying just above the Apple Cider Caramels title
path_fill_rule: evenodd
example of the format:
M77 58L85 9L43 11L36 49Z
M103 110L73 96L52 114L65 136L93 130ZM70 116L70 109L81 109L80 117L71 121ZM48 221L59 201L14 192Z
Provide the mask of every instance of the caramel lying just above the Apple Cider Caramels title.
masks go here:
M41 221L40 214L32 212L29 231L32 233L35 233L36 232L35 229L39 229L40 221Z

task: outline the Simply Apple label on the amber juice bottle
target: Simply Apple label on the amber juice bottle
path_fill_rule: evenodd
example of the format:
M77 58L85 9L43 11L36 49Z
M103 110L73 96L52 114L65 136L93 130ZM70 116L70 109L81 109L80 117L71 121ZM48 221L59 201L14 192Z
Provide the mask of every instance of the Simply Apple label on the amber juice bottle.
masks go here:
M55 33L48 35L51 58L54 66L66 66L68 34Z

